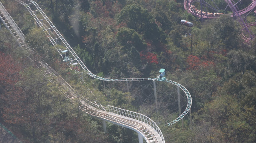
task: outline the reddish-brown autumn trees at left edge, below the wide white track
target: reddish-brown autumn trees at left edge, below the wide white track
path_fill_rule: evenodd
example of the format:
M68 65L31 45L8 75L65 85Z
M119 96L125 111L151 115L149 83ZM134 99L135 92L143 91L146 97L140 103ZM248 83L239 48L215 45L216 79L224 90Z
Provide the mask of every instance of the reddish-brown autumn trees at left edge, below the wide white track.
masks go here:
M23 116L24 100L23 91L16 86L21 80L19 72L22 70L20 64L10 56L0 53L0 112L7 123L22 123L26 119Z

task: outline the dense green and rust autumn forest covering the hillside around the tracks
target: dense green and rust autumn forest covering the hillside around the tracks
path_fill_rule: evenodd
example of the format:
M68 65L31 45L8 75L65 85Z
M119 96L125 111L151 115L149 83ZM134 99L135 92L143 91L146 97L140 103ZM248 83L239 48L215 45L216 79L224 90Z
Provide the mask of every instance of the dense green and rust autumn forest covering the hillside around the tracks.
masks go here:
M167 79L190 92L192 120L186 115L165 125L179 114L177 88L167 82L156 82L156 110L152 81L103 83L71 70L26 8L1 0L36 50L25 53L1 24L0 122L23 143L138 142L136 132L107 123L104 133L101 120L82 114L37 68L42 59L88 100L154 120L166 143L256 142L256 45L243 43L233 18L201 22L181 0L35 1L94 74L143 78L166 69ZM181 25L182 19L194 27ZM183 112L187 99L181 96Z

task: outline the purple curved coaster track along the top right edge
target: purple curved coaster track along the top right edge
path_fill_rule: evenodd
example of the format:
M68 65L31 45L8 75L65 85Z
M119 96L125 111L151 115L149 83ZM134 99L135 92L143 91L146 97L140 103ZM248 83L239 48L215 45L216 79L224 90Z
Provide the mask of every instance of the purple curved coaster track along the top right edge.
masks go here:
M200 10L198 10L195 6L193 6L193 2L195 2L196 0L184 0L184 8L185 10L187 10L189 13L191 13L193 16L196 16L198 18L218 18L220 17L220 13L216 12L216 13L210 13L210 12L201 12ZM227 4L229 4L228 2L226 2ZM188 6L188 7L187 7ZM246 8L244 8L243 10L239 10L238 14L242 15L242 14L246 14L247 12L250 12L251 10L253 10L256 6L256 0L252 0L252 3L247 6ZM228 14L231 17L233 17L233 14Z

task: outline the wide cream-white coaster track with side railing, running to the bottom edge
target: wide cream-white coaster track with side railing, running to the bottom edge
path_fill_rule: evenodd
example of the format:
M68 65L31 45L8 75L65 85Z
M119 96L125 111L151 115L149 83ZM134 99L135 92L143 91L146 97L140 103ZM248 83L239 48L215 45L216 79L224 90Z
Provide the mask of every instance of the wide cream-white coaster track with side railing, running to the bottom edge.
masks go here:
M4 8L3 6L0 7L0 10L6 11L5 9L3 10L3 8ZM30 12L32 12L30 8L27 7L27 9L30 10ZM10 20L12 18L10 16L7 18L5 16L1 16L1 19ZM6 27L7 28L12 27L12 28L18 29L16 33L20 33L20 37L24 38L22 31L20 31L20 29L16 24L12 26L6 25ZM12 33L12 34L14 35L15 33ZM29 49L27 46L24 46L24 47L26 47L26 49ZM165 143L164 138L162 136L162 132L160 131L156 123L154 123L154 121L152 121L150 118L142 114L124 110L121 108L116 108L114 106L104 107L100 104L92 103L87 99L85 99L84 97L82 97L81 95L77 94L76 91L63 78L61 78L61 76L59 76L58 73L55 72L47 63L45 63L44 61L38 61L38 63L40 63L40 67L46 69L46 71L43 74L49 78L50 82L59 83L61 85L59 90L68 99L70 99L70 101L73 104L76 104L77 102L81 104L80 109L82 111L88 113L91 116L98 117L102 120L106 120L106 121L115 123L117 125L121 125L130 129L133 129L134 131L140 133L142 137L144 137L147 143Z

